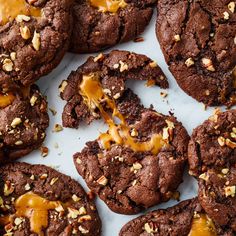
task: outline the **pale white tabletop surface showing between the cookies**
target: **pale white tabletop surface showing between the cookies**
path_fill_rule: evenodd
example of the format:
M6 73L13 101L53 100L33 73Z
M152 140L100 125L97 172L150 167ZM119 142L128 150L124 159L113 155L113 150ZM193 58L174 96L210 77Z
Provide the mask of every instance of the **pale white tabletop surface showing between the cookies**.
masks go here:
M154 15L151 24L142 35L144 37L144 42L125 43L116 46L115 48L146 54L159 64L170 83L170 88L166 90L168 93L166 99L163 99L160 96L160 92L163 90L159 87L146 88L144 83L133 81L128 82L128 86L139 95L146 107L153 104L158 112L164 114L168 114L169 111L174 112L174 115L183 123L189 134L191 134L193 128L201 124L213 113L214 108L208 108L207 111L205 111L203 104L193 100L178 87L168 70L160 46L156 40L155 17L156 16ZM106 52L109 52L112 49L109 49ZM53 166L62 173L70 175L78 180L86 190L85 182L75 170L72 156L75 152L81 151L87 141L96 139L99 132L106 131L106 125L102 121L97 121L93 122L90 126L83 124L78 130L64 129L62 132L53 133L52 129L56 123L62 123L61 114L65 104L65 102L59 98L58 86L63 79L68 77L72 70L76 70L79 65L83 64L88 56L89 55L67 54L59 67L38 82L42 93L47 96L49 108L53 108L57 111L56 116L53 116L51 112L49 112L50 127L47 130L47 138L45 141L45 146L49 148L49 155L43 158L39 151L35 151L21 159L21 161L32 164ZM57 145L58 148L56 148ZM191 198L197 194L196 182L187 174L187 171L184 177L184 183L180 185L179 191L181 193L181 200ZM174 204L176 204L176 201L169 201L168 203L158 205L149 210L166 208ZM99 199L97 199L97 207L103 223L103 236L118 235L119 230L125 223L137 217L137 215L124 216L115 214Z

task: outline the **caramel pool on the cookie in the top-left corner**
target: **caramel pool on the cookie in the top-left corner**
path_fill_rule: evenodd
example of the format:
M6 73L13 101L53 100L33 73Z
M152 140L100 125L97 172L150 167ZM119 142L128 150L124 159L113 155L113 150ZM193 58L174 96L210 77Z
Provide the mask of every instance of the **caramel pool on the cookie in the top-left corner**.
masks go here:
M18 15L41 16L41 9L29 5L26 0L0 0L0 25L13 21Z

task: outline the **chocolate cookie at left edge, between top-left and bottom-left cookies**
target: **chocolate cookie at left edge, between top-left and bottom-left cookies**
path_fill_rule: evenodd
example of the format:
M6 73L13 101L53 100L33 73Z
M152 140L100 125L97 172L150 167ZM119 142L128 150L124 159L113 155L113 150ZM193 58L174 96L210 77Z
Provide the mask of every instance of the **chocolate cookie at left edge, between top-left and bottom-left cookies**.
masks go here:
M0 94L0 164L40 147L49 125L47 102L36 85Z

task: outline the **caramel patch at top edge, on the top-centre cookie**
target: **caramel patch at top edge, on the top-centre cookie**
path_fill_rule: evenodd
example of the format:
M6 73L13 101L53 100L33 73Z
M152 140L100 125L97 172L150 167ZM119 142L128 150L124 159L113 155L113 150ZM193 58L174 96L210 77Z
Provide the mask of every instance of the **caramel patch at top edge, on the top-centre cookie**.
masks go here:
M127 3L124 0L89 0L91 6L98 8L101 12L116 13L119 9L125 8Z

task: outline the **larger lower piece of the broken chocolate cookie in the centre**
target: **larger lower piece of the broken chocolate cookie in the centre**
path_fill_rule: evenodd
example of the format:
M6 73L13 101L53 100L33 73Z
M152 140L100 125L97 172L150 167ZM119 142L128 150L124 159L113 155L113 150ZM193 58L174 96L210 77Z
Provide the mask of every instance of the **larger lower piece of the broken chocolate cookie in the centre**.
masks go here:
M107 148L101 135L74 155L74 163L112 211L135 214L178 195L189 137L174 117L145 109L130 90L119 99L118 110L126 117L131 137L126 133L121 144L114 141ZM157 134L162 139L154 142L158 151L143 148ZM125 140L132 138L138 147Z

